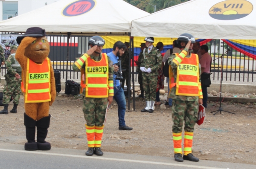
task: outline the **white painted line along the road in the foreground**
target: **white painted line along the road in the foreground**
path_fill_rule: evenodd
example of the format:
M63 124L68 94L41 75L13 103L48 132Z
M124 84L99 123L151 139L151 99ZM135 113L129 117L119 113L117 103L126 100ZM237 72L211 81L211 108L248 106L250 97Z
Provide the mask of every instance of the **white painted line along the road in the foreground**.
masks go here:
M0 151L5 151L5 152L21 152L21 153L30 153L30 154L39 154L39 155L56 155L56 156L64 156L64 157L88 158L88 159L97 159L97 160L124 161L124 162L157 164L157 165L166 165L166 166L190 167L190 168L197 168L197 169L224 169L224 168L216 168L216 167L209 167L209 166L193 166L193 165L176 164L176 163L162 163L162 162L154 162L154 161L128 160L128 159L121 159L121 158L91 157L91 156L86 156L86 155L67 155L67 154L58 154L58 153L49 153L49 152L36 152L36 151L25 151L25 150L13 150L13 149L0 149Z

